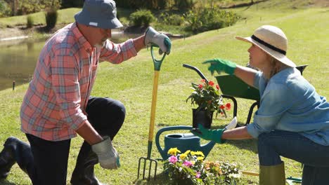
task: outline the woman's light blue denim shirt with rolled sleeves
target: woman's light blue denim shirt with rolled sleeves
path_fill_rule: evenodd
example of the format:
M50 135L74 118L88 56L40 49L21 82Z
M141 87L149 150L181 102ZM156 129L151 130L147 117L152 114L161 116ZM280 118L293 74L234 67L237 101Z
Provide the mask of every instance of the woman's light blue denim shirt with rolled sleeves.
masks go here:
M254 87L259 89L261 99L253 123L247 125L252 137L285 130L329 146L329 103L297 69L283 69L269 80L258 72Z

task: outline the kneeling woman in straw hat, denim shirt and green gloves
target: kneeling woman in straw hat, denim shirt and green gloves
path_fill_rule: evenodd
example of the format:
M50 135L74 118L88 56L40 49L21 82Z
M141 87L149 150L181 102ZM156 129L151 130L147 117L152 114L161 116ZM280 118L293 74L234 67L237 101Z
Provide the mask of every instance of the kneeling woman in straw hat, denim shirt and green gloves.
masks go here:
M259 184L285 184L280 156L304 164L302 184L329 182L329 103L285 56L287 38L278 27L265 25L247 38L250 65L259 71L228 60L207 60L209 71L235 74L259 89L259 109L250 125L233 130L193 132L204 139L258 139Z

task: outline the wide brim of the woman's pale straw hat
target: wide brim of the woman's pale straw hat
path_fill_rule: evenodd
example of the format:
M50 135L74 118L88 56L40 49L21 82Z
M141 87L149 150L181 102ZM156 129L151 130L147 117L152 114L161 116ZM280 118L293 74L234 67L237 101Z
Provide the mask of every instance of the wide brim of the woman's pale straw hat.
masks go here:
M283 55L282 53L278 53L276 50L272 50L271 48L268 48L267 46L264 46L262 43L259 43L259 42L255 41L251 37L236 36L236 39L238 39L240 41L245 41L245 42L248 42L248 43L253 43L258 48L261 48L267 54L269 54L272 57L276 58L276 60L282 62L283 64L286 64L290 67L296 67L296 64L294 62L292 62L287 56Z

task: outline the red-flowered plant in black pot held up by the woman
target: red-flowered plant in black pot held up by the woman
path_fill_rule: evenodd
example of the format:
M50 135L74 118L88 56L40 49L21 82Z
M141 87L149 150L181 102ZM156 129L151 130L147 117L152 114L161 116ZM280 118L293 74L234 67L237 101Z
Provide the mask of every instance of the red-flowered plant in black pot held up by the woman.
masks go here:
M193 128L197 128L198 124L202 124L205 128L210 128L212 124L212 116L216 112L226 117L226 111L231 109L231 104L224 104L223 98L219 93L219 85L215 85L213 81L201 80L201 83L192 83L193 92L186 99L191 100L191 104L198 105L197 109L193 109Z

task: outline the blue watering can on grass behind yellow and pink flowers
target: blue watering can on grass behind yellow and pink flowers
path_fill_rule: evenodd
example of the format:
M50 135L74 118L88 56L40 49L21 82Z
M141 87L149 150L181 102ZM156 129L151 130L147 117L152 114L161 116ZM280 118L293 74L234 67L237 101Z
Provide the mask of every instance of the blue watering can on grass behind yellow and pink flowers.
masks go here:
M159 143L159 137L162 132L170 131L170 130L191 130L191 126L170 126L161 128L157 131L157 135L155 136L155 144L157 145L157 150L160 152L162 159L167 160L170 156L168 155L168 151L171 148L177 148L182 153L191 150L191 151L202 151L202 153L207 157L209 152L214 147L215 142L208 142L207 144L200 145L200 137L193 135L192 133L186 134L169 134L164 136L164 149L161 148Z

